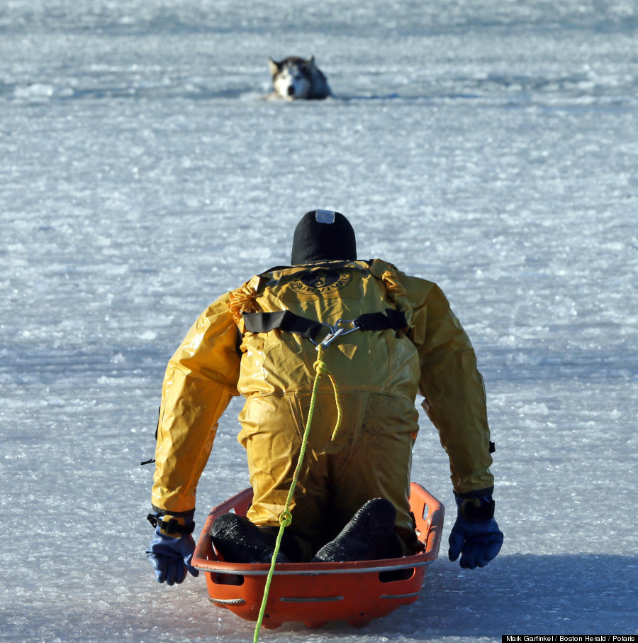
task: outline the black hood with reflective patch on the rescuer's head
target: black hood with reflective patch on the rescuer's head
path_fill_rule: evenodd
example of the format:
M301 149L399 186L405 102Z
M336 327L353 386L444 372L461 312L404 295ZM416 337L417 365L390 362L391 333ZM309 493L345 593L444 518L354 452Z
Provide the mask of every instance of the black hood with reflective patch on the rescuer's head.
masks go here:
M354 260L357 242L350 222L340 212L306 212L295 228L291 264Z

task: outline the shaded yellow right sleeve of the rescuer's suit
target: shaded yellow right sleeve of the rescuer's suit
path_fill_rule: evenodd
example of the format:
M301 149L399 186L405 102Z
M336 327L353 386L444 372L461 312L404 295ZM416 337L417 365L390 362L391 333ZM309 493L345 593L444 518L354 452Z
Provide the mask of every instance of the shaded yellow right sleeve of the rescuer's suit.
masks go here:
M419 354L419 392L449 456L457 493L491 488L490 430L483 377L476 355L440 287L407 277L410 336Z

